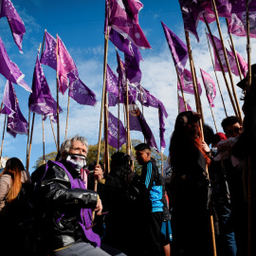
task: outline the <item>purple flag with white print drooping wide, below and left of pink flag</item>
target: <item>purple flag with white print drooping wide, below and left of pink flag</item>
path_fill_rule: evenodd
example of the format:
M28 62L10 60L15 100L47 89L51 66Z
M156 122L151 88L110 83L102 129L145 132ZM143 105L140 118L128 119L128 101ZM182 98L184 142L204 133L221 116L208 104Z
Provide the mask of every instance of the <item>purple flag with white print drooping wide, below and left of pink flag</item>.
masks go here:
M31 112L44 116L44 119L49 116L49 119L54 122L57 120L57 102L51 96L39 56L37 56L34 68L32 93L28 99L28 107ZM59 112L63 112L60 106Z

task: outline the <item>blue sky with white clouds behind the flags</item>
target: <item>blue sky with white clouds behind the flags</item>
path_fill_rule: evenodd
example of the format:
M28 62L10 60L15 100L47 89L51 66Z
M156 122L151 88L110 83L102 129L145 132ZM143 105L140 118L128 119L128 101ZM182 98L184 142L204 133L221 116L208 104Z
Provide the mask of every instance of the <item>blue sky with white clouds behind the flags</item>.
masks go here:
M176 74L174 70L174 63L171 57L170 50L167 46L163 29L160 21L163 21L176 33L184 42L185 34L182 23L181 11L177 0L147 0L142 1L144 8L139 14L139 24L142 27L152 50L141 50L141 55L144 62L141 62L142 81L141 85L148 89L156 98L164 103L169 114L166 119L166 142L167 149L165 154L168 155L169 140L174 130L174 120L177 116L177 101L176 101ZM95 107L79 105L76 101L70 100L70 112L68 120L67 136L71 137L80 134L88 138L90 144L98 143L99 124L101 114L101 91L103 81L103 25L104 25L104 0L12 0L12 4L19 12L23 19L27 32L24 35L23 50L24 54L20 54L17 46L14 44L9 24L6 18L0 19L0 36L7 48L9 58L12 62L18 64L22 72L25 74L25 81L29 86L32 83L32 75L34 64L37 56L37 49L43 41L45 29L56 37L58 34L64 42L67 50L71 54L73 60L78 66L80 77L82 81L92 89L96 95L98 103ZM218 36L215 24L210 25L212 33ZM225 20L221 19L221 27L225 39L225 44L229 48L228 33ZM197 43L193 35L192 54L196 73L201 85L203 85L200 75L200 67L206 72L210 73L215 80L214 72L210 61L210 53L205 36L205 25L199 23L198 34L200 43ZM246 38L238 38L233 36L236 49L247 59L246 52ZM255 40L251 39L252 44L252 64L255 63ZM120 53L121 57L123 55ZM115 47L109 43L108 64L113 70L117 68ZM189 63L186 66L190 69ZM46 80L49 84L51 93L56 99L56 74L53 69L43 65ZM229 76L227 74L229 80ZM223 82L221 73L218 72L218 79L221 84L222 93L226 99L227 109L229 115L232 115L231 104L229 103L229 96L225 84ZM239 82L237 77L234 77L234 82ZM0 75L0 99L3 98L3 92L6 84L6 79ZM25 116L28 118L27 101L29 93L22 87L14 84L20 108ZM238 98L241 96L240 89L237 88ZM185 95L186 99L194 107L194 100L191 95ZM215 130L211 118L210 107L205 96L205 90L201 96L203 104L203 111L205 122ZM242 105L242 101L240 104ZM64 141L67 95L60 95L60 105L64 109L64 113L60 115L61 127L61 142ZM159 132L158 132L158 113L154 108L143 108L145 119L148 121L150 127L155 135L155 140L159 146ZM111 108L111 113L117 117L117 108ZM219 92L215 100L215 119L217 122L218 132L222 132L220 122L225 118L223 105ZM0 117L0 137L2 137L4 116ZM55 127L56 133L56 127ZM56 150L53 135L51 132L49 120L45 122L45 137L46 137L46 154ZM132 132L132 138L143 140L140 133ZM42 119L41 116L36 115L34 134L32 141L32 149L30 156L29 172L31 173L32 166L36 159L43 155L43 136L42 136ZM27 153L27 136L17 135L16 138L5 134L3 156L17 156L26 163Z

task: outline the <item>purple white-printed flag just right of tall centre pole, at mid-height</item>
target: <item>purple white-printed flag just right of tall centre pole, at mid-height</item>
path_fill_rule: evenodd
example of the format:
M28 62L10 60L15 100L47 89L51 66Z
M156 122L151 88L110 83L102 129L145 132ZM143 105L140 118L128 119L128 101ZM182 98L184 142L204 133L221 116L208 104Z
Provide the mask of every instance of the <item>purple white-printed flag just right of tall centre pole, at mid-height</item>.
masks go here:
M119 87L119 79L107 64L106 90L108 91L108 105L116 106L117 103L124 103L122 86Z

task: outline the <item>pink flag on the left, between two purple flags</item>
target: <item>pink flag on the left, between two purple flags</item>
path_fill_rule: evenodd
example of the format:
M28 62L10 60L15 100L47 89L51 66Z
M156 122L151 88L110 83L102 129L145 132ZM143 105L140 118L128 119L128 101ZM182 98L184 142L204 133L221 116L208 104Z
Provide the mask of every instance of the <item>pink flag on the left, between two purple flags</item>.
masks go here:
M68 88L67 74L72 70L76 70L76 64L71 58L69 52L66 50L63 41L57 36L58 44L58 62L57 62L57 73L59 79L59 90L64 94Z

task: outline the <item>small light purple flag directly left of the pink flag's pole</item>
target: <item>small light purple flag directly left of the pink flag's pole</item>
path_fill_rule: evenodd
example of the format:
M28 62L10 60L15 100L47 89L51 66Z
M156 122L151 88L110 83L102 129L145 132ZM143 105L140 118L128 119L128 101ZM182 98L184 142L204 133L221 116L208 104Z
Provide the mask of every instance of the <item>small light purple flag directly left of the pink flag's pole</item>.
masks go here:
M45 38L45 50L43 54L41 55L40 63L46 64L50 67L52 67L54 70L57 70L57 57L56 57L56 39L50 35L46 31L46 38Z

